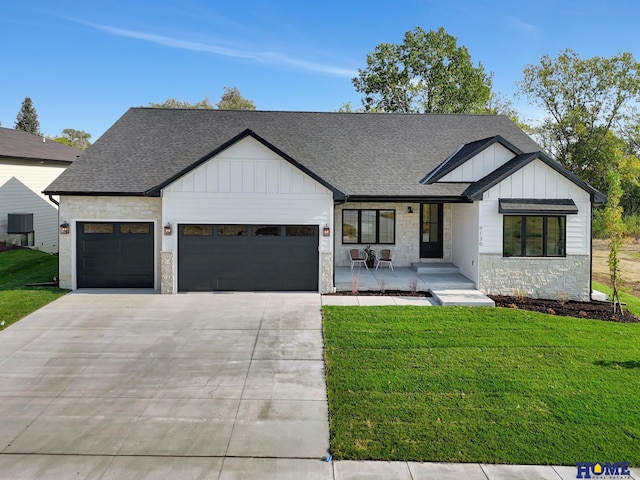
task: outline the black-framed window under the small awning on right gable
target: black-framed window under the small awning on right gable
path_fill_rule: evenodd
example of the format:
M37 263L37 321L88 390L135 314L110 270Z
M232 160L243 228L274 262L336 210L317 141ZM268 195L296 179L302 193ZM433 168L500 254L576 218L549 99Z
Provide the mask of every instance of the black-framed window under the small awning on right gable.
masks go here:
M505 257L564 257L566 217L519 215L504 217Z

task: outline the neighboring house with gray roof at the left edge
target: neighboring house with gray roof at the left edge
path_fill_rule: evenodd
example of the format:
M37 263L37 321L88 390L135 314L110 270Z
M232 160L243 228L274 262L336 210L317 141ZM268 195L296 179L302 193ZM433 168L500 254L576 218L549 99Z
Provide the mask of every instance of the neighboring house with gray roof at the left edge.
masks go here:
M80 154L76 148L0 128L0 242L58 251L58 206L42 191Z

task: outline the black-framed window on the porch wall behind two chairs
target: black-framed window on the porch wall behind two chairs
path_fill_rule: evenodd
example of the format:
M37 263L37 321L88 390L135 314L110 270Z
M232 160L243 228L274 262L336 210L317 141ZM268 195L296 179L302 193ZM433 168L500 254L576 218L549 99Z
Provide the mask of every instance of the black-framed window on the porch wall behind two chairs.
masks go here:
M395 210L343 210L342 243L394 244Z

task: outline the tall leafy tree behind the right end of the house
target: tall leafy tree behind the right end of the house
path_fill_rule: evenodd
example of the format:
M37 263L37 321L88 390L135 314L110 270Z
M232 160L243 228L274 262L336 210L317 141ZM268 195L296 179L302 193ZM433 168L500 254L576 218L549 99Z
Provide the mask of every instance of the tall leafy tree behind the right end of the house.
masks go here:
M640 64L630 53L582 59L567 49L527 66L518 86L547 114L534 129L537 140L570 171L606 190L606 171L620 166L612 133L619 136L632 121Z

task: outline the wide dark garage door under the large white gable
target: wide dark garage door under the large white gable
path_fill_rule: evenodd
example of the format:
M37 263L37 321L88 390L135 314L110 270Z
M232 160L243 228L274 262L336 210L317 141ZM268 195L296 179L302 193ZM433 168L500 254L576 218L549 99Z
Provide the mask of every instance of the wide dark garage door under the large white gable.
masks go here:
M180 291L318 291L318 227L180 225Z

